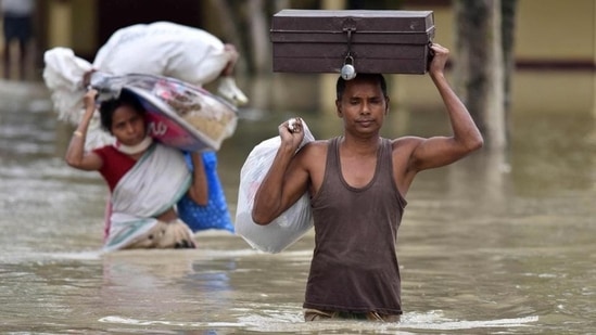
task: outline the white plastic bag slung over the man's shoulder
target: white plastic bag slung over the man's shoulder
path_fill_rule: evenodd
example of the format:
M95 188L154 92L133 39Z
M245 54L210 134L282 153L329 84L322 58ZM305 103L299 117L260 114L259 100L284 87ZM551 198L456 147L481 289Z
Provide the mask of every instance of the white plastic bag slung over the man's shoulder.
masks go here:
M302 125L304 139L300 147L315 140L306 124L303 121ZM240 171L236 210L236 233L253 248L270 254L282 252L313 227L308 193L267 226L256 224L252 219L255 193L271 167L280 144L279 137L270 138L251 151Z

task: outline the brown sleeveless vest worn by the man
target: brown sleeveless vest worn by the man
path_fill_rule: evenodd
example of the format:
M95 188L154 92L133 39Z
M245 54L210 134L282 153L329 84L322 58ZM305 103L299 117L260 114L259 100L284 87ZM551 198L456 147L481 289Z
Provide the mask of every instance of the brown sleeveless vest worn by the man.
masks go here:
M338 143L329 141L312 199L316 236L304 308L401 314L395 243L406 201L393 179L391 141L382 139L375 176L360 189L343 179Z

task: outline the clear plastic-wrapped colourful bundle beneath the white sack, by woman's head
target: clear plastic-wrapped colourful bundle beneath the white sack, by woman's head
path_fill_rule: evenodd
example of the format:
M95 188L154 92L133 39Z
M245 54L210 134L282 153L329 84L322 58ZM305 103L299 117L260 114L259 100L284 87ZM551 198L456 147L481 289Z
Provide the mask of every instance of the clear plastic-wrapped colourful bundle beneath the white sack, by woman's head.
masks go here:
M217 151L236 130L236 106L181 80L144 74L91 75L91 87L102 102L123 90L136 95L148 111L149 134L185 151Z

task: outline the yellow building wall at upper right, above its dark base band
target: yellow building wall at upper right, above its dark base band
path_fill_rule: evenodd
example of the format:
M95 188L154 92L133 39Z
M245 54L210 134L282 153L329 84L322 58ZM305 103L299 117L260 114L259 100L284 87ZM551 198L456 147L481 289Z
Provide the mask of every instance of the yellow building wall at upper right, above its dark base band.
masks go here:
M434 11L435 41L455 49L452 8L414 2L404 9ZM595 20L594 0L518 0L515 54L520 67L594 67Z

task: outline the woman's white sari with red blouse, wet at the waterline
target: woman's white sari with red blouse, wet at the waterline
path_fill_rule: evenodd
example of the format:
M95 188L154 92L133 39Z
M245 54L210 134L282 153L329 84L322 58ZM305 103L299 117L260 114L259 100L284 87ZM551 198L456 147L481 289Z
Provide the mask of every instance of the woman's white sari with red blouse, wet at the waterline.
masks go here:
M111 153L103 147L96 152ZM130 157L128 157L130 158ZM104 167L117 169L117 160L104 160ZM134 160L134 159L132 159ZM154 142L147 152L134 160L135 165L115 181L107 205L105 252L131 247L174 248L194 246L192 231L182 221L162 222L155 219L169 210L187 193L192 175L181 151ZM102 167L102 168L104 168ZM119 167L118 167L119 168ZM110 176L103 175L102 176ZM105 178L105 177L104 177ZM114 177L111 177L114 178ZM105 178L107 180L107 178Z

